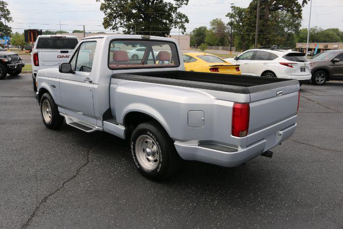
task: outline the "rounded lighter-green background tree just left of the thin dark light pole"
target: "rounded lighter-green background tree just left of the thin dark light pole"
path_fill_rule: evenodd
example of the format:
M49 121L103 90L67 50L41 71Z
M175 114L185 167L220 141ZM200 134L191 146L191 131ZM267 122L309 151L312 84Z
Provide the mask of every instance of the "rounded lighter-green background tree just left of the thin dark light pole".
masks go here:
M210 29L218 38L219 46L228 46L230 44L230 27L221 19L216 18L210 21Z

